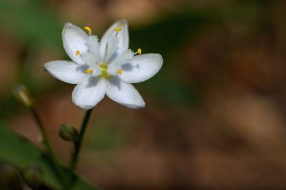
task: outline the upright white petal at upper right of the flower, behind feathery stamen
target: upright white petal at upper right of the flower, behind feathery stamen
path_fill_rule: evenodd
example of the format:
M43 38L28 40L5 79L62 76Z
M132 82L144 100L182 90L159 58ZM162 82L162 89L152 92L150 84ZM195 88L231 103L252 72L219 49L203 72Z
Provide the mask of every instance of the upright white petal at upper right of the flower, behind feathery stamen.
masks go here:
M101 57L104 57L108 39L116 35L116 31L114 31L116 27L121 28L121 31L119 31L117 34L117 37L119 40L117 53L120 54L123 51L128 49L128 46L129 46L128 22L126 20L118 20L116 23L111 25L111 27L109 27L108 30L106 30L106 32L104 33L104 36L101 38L101 41L100 41Z

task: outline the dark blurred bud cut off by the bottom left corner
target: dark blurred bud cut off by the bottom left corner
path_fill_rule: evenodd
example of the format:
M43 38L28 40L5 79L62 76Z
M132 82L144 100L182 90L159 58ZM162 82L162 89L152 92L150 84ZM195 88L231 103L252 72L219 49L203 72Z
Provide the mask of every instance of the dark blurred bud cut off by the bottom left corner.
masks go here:
M21 189L20 172L10 163L0 163L0 189Z

